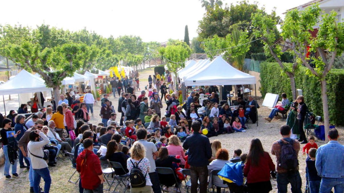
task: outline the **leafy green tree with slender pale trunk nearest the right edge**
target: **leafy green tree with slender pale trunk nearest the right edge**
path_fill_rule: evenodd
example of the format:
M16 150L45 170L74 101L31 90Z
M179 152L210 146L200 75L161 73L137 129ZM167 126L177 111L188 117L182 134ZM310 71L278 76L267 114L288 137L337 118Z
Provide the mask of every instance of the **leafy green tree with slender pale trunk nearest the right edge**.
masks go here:
M331 11L330 14L322 13L318 4L304 11L291 10L286 14L281 33L283 38L289 39L292 43L292 50L298 62L307 67L309 75L315 76L321 83L325 133L330 128L326 75L331 70L336 56L340 56L344 51L344 23L337 23L336 15L335 11ZM312 37L309 31L316 25L319 25L318 33L316 37ZM320 56L307 57L307 46L310 46L310 52L317 52ZM326 59L325 50L331 55L329 60Z

